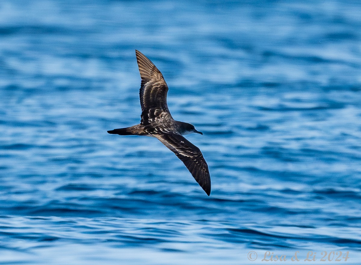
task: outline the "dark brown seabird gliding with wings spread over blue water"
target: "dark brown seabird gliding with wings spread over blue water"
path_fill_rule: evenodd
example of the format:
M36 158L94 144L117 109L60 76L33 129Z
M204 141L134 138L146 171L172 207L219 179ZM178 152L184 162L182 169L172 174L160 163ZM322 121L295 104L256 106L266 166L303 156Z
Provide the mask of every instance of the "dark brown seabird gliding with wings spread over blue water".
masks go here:
M193 178L210 195L208 165L197 146L183 137L199 133L190 123L174 120L167 105L168 85L160 70L140 51L135 50L141 85L139 89L142 114L140 123L131 127L108 131L110 134L141 135L157 138L169 148L191 172Z

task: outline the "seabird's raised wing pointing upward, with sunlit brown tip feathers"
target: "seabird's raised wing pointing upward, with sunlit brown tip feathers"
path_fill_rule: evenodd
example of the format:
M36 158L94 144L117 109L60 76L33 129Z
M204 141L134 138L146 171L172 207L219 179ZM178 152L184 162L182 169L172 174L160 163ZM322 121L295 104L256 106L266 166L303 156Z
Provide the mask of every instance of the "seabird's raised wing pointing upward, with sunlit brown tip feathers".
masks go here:
M167 106L168 86L162 73L140 51L135 50L139 73L142 78L139 97L142 107L142 124L147 124L151 116L157 116L160 111L169 112Z

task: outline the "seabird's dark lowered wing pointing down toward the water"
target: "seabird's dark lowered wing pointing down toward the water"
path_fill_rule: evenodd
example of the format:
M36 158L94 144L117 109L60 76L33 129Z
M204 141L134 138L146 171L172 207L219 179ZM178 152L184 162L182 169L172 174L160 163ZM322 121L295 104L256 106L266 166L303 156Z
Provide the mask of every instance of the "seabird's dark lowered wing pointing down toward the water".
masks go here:
M208 165L199 148L179 134L166 133L154 134L154 136L182 160L193 178L209 196L210 176Z

